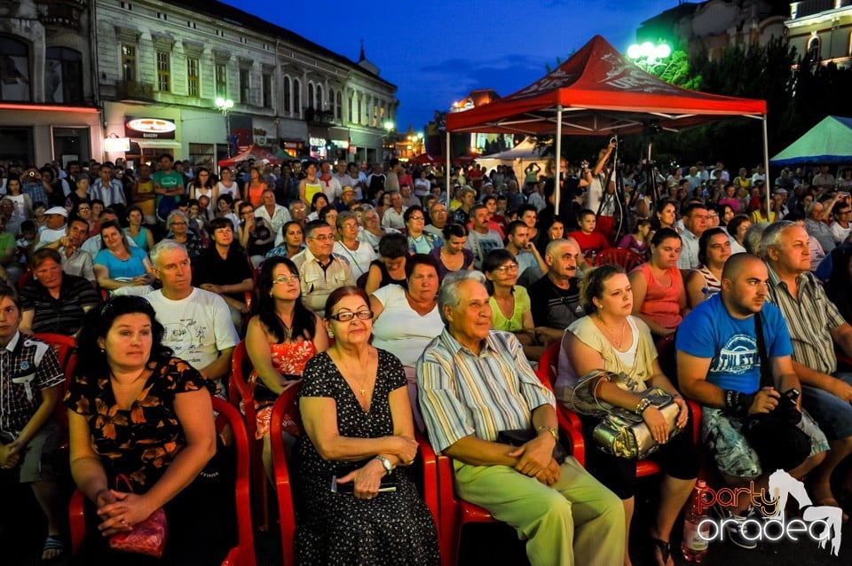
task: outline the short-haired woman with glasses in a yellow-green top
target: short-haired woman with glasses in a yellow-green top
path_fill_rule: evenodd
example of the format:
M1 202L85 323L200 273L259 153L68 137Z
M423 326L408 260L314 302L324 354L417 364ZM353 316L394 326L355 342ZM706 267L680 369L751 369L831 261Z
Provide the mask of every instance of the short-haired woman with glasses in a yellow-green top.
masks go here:
M491 295L491 327L517 335L529 359L541 357L543 349L536 341L532 303L526 289L517 284L517 260L503 248L493 249L482 261L485 287Z

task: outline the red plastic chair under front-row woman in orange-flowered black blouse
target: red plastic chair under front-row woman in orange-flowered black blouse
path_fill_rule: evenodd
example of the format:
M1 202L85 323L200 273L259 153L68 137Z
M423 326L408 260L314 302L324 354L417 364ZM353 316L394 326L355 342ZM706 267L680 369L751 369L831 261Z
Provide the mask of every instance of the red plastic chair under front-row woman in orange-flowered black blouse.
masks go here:
M222 562L222 566L256 566L255 535L251 523L251 503L248 494L248 436L239 411L218 397L211 397L213 410L218 413L216 425L221 431L226 426L233 431L233 444L236 448L236 478L234 498L237 510L237 546L234 546ZM75 491L68 506L68 522L71 528L71 550L77 552L86 536L84 515L85 496ZM204 544L200 540L199 544Z

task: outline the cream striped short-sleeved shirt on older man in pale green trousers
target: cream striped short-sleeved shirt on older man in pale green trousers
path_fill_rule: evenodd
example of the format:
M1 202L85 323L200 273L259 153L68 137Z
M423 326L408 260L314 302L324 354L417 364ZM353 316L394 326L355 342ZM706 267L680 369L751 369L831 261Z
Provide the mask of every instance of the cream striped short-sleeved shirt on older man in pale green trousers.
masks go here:
M493 442L501 430L532 428L533 410L556 406L515 334L497 330L475 354L445 328L417 362L417 389L435 452L465 436Z

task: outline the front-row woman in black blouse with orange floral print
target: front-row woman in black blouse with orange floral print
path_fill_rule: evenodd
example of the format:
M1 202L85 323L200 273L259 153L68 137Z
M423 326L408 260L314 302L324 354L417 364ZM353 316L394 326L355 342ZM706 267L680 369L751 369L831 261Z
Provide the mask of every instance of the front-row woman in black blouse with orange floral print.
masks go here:
M138 296L112 298L83 325L65 397L71 473L90 502L77 563L147 563L110 551L107 540L160 507L168 536L154 563L218 564L234 544L231 470L205 470L217 445L211 382L172 358L162 334L154 308ZM131 491L116 483L120 475Z

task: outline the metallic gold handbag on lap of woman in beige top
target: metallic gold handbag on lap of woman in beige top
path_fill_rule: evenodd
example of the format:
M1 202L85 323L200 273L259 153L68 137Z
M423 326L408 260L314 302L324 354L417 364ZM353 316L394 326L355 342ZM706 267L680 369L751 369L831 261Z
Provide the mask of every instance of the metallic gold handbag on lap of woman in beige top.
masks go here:
M601 381L610 381L616 385L628 385L630 380L620 373L595 370L583 375L572 389L568 405L576 413L597 417L601 421L592 430L598 448L619 458L643 460L656 452L659 444L651 435L651 428L643 421L641 414L623 407L602 402L597 397L597 388ZM619 387L621 387L619 385ZM667 391L654 387L643 391L631 391L634 395L648 399L657 407L666 419L668 437L681 432L677 426L677 416L681 409Z

